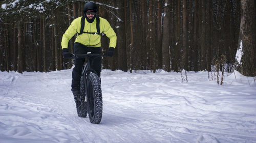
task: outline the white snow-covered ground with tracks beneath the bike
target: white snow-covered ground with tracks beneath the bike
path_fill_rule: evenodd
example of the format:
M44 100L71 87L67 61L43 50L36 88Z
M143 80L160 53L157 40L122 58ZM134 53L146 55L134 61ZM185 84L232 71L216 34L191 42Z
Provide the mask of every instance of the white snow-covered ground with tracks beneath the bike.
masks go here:
M100 124L79 118L72 70L0 72L0 142L256 142L253 77L102 71ZM236 77L235 77L236 75ZM183 73L185 78L185 74Z

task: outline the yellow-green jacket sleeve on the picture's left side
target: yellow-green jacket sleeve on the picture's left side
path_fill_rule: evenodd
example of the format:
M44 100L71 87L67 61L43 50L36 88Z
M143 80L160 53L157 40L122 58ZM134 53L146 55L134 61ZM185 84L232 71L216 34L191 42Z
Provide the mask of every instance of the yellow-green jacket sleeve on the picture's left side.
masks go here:
M63 34L62 40L61 40L61 48L68 48L69 40L77 33L78 23L79 20L74 19L72 23L70 24L68 30Z

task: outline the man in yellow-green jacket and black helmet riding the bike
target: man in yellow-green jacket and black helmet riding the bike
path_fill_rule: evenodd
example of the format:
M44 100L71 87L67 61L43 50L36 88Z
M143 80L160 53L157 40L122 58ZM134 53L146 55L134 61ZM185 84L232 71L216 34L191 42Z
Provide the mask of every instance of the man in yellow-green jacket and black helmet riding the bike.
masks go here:
M64 58L73 57L73 54L68 52L68 42L76 33L78 34L74 43L75 54L84 54L87 52L101 53L100 33L104 33L110 39L110 48L105 55L113 56L116 47L116 33L106 19L97 17L97 12L98 7L95 3L88 2L84 4L84 16L74 19L68 30L62 36L61 46ZM97 25L97 22L99 25ZM84 24L84 27L82 24ZM83 27L83 30L81 27ZM76 98L80 95L80 77L85 60L83 58L75 58L74 62L75 67L72 72L71 91ZM92 68L100 77L101 58L95 58Z

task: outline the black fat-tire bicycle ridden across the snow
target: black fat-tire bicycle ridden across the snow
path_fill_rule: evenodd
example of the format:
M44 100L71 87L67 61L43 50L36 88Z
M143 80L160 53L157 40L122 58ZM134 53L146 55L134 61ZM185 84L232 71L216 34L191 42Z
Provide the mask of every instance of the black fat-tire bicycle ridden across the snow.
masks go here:
M106 57L103 54L74 54L77 58L86 58L87 63L84 65L80 79L81 95L77 99L76 110L78 117L86 118L87 113L91 123L99 124L102 118L102 92L100 78L96 71L91 68L93 60ZM93 59L92 56L95 56ZM92 60L92 61L91 61Z

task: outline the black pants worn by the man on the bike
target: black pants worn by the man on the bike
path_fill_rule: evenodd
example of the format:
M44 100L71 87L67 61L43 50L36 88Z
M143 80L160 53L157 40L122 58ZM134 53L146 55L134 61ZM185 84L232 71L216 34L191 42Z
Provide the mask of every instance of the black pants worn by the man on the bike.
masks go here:
M74 44L74 53L75 54L84 54L87 52L101 53L101 50L100 50L100 47L90 48L90 47L84 46L77 42ZM93 65L91 65L91 68L94 69L97 72L97 75L100 77L101 57L97 56L97 58L95 58L95 56L92 56L90 59L94 59ZM72 72L72 84L71 84L72 89L79 89L82 68L83 68L83 64L85 61L86 60L83 58L75 58L75 67ZM90 61L92 61L92 60L90 60Z

